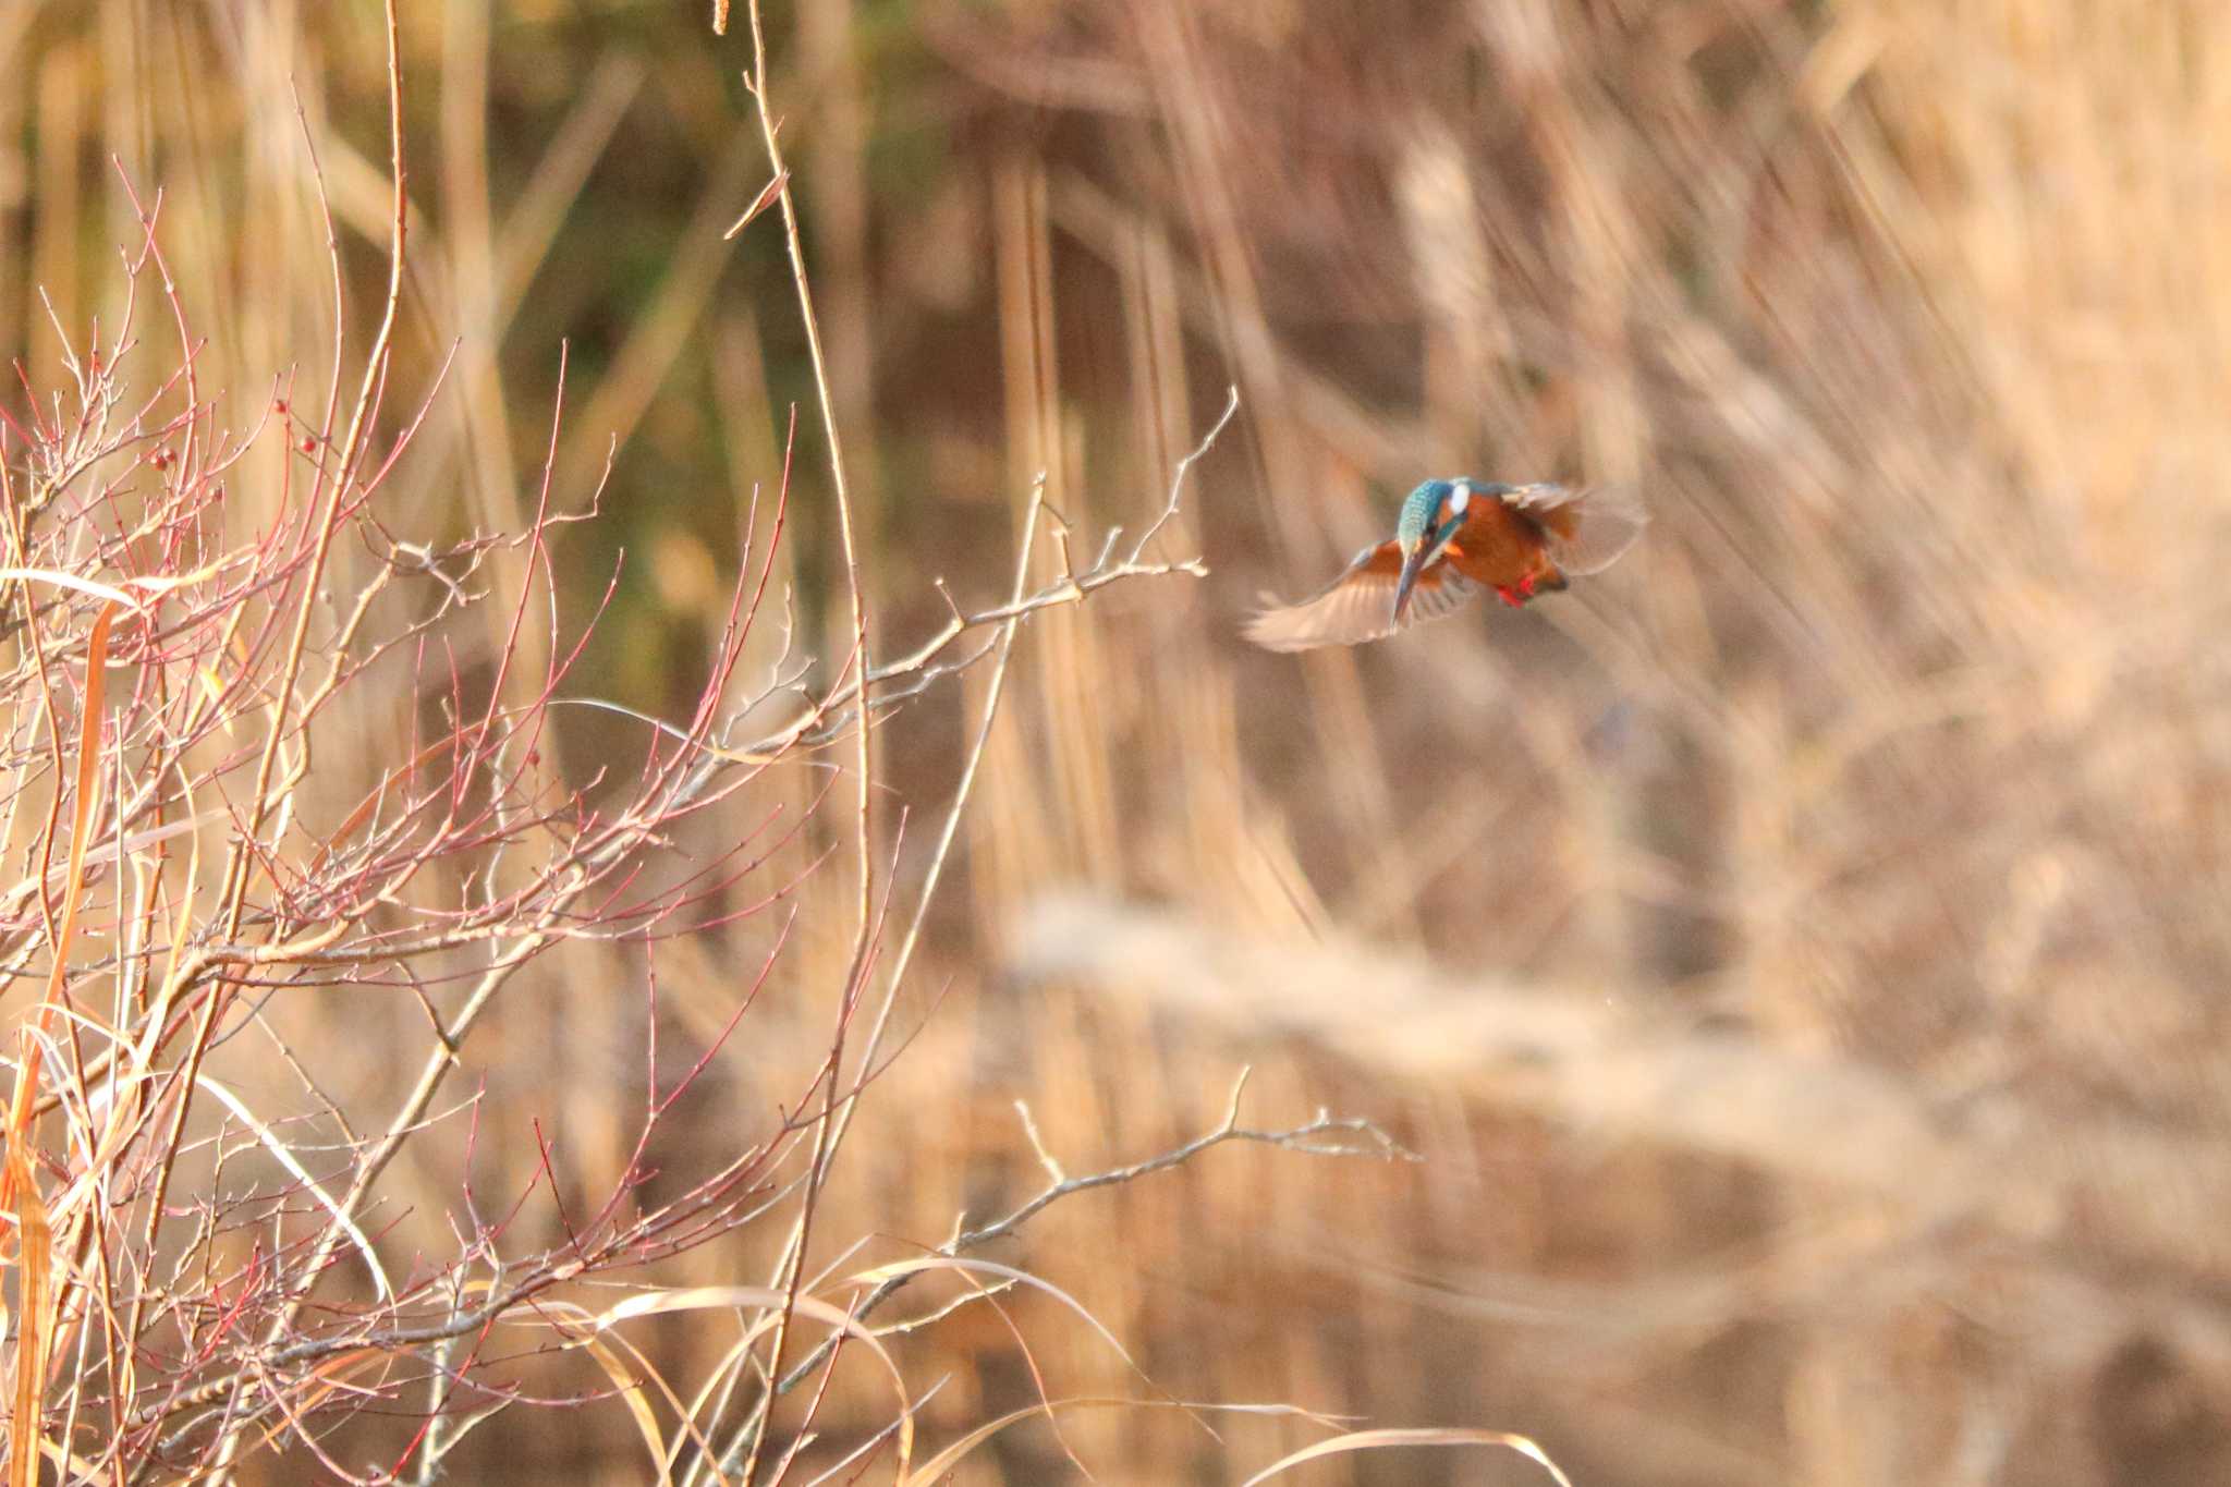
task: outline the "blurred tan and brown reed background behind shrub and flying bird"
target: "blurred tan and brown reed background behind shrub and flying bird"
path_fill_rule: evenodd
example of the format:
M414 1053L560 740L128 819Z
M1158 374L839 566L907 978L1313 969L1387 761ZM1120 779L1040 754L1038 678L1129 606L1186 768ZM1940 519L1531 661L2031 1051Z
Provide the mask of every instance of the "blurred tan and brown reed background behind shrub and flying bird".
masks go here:
M567 341L560 504L618 441L558 553L580 615L620 573L582 689L674 716L792 401L814 428L781 227L721 236L767 181L741 7L727 36L709 0L402 13L397 379L455 363L382 519L515 524ZM991 1253L1171 1396L1526 1431L1606 1487L2231 1480L2231 13L801 0L767 40L879 653L941 624L933 580L1004 593L1033 475L1089 553L1240 395L1160 537L1209 577L1022 635L901 999L921 1030L817 1255L908 1255L1042 1186L1017 1099L1089 1173L1211 1128L1252 1066L1249 1124L1327 1106L1426 1159L1220 1148ZM51 363L54 321L114 314L120 165L163 189L203 386L321 397L306 125L361 337L382 58L364 0L0 9L0 348ZM1524 613L1236 640L1457 473L1633 484L1653 526ZM781 562L801 644L841 655L803 435ZM970 676L883 733L921 838L979 704ZM625 718L569 725L576 774L640 758ZM319 769L379 762L368 731ZM843 903L841 867L814 894ZM723 1052L707 1144L825 1046L825 925L808 905ZM678 1039L718 1030L770 932L660 952ZM477 1050L493 1186L533 1168L531 1117L587 1186L634 1139L640 963L567 965ZM299 1017L335 1032L344 1108L393 1079L384 1028L424 1041L408 1008ZM455 1153L388 1186L384 1244L440 1242ZM1053 1393L1140 1393L1060 1304L1006 1306ZM687 1376L714 1331L638 1340ZM904 1342L950 1373L930 1440L1037 1398L1017 1333L973 1309ZM888 1411L861 1380L832 1442ZM1243 1480L1312 1438L1218 1429L1062 1438L1122 1483ZM959 1480L1071 1480L1062 1451L1024 1425ZM616 1407L522 1407L453 1471L643 1458ZM1310 1471L1539 1480L1461 1451Z

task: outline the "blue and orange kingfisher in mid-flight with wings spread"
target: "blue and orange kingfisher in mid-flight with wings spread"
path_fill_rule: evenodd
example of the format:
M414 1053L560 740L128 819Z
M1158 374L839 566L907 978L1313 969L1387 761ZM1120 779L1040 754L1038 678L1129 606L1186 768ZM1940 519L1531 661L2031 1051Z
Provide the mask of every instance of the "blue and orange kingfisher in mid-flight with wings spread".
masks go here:
M1307 600L1258 611L1245 633L1269 651L1312 651L1452 615L1481 589L1519 609L1609 568L1646 522L1620 486L1428 479L1401 504L1392 542L1356 553Z

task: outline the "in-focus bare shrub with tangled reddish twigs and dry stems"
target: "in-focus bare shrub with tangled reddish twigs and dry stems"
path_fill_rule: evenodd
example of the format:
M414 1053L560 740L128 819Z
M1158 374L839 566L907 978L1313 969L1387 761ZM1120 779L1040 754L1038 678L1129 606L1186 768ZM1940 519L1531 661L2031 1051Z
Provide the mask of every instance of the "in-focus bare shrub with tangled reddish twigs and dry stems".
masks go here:
M1064 528L1060 571L1037 582L1044 504L1033 495L1008 597L953 606L881 664L848 564L850 653L817 671L792 642L799 626L776 582L792 415L685 718L593 698L576 667L618 580L567 593L553 560L567 531L598 515L602 490L602 479L569 488L558 475L562 350L524 524L428 542L384 511L395 473L424 457L448 366L424 388L399 386L411 210L393 7L386 42L388 274L361 352L348 352L357 325L315 149L332 361L321 377L279 375L245 410L199 372L203 339L165 263L161 194L120 178L138 227L120 265L120 321L78 332L56 317L58 366L25 370L22 397L0 412L13 651L0 676L0 829L20 863L0 894L0 943L11 976L42 988L13 1059L0 1168L18 1282L11 1480L36 1480L40 1456L58 1480L225 1476L274 1447L341 1480L433 1480L477 1425L593 1400L625 1411L665 1478L685 1465L694 1478L783 1480L846 1351L872 1358L886 1396L883 1425L848 1460L888 1447L901 1478L928 1480L908 1467L917 1396L868 1324L910 1280L959 1275L968 1289L946 1309L1028 1282L962 1253L1071 1193L1225 1141L1397 1153L1365 1121L1330 1115L1290 1130L1240 1126L1234 1090L1227 1119L1196 1141L1109 1173L1057 1173L928 1257L846 1273L850 1240L834 1262L810 1264L843 1130L904 1048L886 1037L897 988L1017 629L1109 584L1198 573L1153 548L1207 441L1178 461L1165 508L1133 540L1111 531L1080 564ZM812 328L788 174L761 118L770 201ZM152 377L147 317L167 317L183 352ZM1236 399L1207 439L1234 410ZM834 433L830 461L850 544ZM906 834L879 832L870 738L892 709L977 662L991 689L975 747L901 903ZM562 716L576 707L618 713L640 738L636 754L564 760ZM852 811L823 820L839 785ZM801 919L817 874L834 874L841 896L810 898ZM814 914L846 903L848 970L819 988L792 947L819 932ZM707 939L752 952L723 1021L676 1052L660 1043L658 950ZM535 1115L527 1133L495 1133L533 1144L527 1182L484 1186L480 1095L506 1070L502 1041L486 1037L491 1010L506 992L616 968L627 981L605 997L598 1032L638 1021L643 1061L616 1175L571 1186L553 1155L564 1124ZM825 1048L761 1070L772 1112L723 1121L725 1139L707 1144L703 1083L721 1079L770 988L792 1001L832 992ZM301 1003L319 1017L292 1017ZM408 1059L373 1054L390 1063L370 1124L361 1101L328 1092L337 1079L361 1083L368 1048L413 1046ZM272 1079L250 1086L241 1070ZM676 1110L698 1124L680 1139ZM457 1173L442 1213L393 1202L384 1179L399 1164ZM678 1284L676 1257L761 1226L776 1255L765 1284ZM620 1331L674 1313L734 1318L734 1342L689 1384L669 1382ZM589 1393L571 1355L593 1364ZM801 1418L776 1431L776 1400L801 1384L812 1384Z

